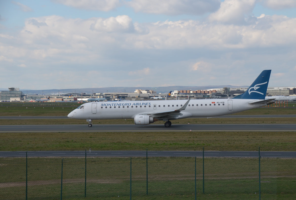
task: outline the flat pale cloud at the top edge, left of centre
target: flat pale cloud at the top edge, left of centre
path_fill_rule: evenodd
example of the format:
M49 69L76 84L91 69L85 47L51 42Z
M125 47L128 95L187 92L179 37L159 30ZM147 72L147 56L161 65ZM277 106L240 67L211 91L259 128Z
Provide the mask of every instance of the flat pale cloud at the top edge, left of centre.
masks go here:
M110 11L121 6L119 0L52 0L58 4L85 10Z

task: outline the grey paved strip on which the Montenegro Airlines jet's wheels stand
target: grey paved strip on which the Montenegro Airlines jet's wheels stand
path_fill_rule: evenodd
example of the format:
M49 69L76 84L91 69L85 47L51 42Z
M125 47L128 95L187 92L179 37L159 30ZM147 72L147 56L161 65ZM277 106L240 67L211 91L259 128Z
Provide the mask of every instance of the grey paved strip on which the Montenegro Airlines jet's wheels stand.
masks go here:
M0 125L0 132L176 132L176 131L296 131L296 124L54 124Z

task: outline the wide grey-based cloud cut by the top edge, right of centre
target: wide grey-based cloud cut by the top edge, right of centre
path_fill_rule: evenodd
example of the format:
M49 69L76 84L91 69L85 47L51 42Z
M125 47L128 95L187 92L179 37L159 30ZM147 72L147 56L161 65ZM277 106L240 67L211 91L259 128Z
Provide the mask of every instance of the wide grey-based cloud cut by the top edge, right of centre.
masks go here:
M136 12L165 15L203 15L220 6L219 0L131 0L126 4Z

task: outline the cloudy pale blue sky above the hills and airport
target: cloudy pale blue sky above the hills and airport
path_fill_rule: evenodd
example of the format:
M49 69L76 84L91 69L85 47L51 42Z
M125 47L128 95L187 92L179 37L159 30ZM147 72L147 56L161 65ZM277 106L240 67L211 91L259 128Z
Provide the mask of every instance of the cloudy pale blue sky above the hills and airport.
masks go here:
M0 88L296 86L296 0L1 0Z

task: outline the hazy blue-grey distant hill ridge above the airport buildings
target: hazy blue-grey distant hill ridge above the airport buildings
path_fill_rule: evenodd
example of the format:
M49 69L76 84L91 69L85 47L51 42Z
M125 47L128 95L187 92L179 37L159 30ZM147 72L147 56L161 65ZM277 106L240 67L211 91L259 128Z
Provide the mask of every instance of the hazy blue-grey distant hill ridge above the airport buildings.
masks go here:
M174 90L198 90L198 89L212 89L212 88L223 88L223 87L231 87L235 88L238 86L233 85L208 85L208 86L167 86L167 87L100 87L100 88L73 88L73 89L42 89L42 90L29 90L29 89L20 89L25 95L50 95L57 93L105 93L105 92L134 92L136 89L148 89L154 90L157 93L168 93ZM239 87L249 87L249 86L239 86ZM2 90L8 90L2 89Z

